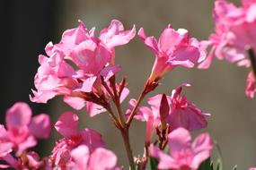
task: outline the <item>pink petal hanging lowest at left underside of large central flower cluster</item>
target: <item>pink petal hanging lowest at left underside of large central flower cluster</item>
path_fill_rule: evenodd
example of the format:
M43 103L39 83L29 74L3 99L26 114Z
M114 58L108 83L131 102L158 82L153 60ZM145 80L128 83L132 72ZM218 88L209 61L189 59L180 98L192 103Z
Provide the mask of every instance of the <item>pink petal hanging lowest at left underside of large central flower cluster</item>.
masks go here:
M86 105L85 104L86 102L85 102L84 98L65 96L63 98L63 101L67 105L72 106L73 108L75 108L76 110L80 110Z

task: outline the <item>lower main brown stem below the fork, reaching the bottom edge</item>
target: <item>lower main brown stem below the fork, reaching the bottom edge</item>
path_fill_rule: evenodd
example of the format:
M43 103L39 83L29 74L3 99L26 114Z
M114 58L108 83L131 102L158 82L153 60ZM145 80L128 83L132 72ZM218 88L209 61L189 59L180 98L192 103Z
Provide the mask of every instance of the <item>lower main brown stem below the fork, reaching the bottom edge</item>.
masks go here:
M134 159L133 159L133 154L132 154L132 150L130 147L130 143L129 143L129 136L128 136L128 128L123 128L120 129L120 132L122 134L122 139L124 141L125 144L125 148L127 151L127 156L128 156L128 162L129 162L129 166L131 170L135 170L135 163L134 163Z

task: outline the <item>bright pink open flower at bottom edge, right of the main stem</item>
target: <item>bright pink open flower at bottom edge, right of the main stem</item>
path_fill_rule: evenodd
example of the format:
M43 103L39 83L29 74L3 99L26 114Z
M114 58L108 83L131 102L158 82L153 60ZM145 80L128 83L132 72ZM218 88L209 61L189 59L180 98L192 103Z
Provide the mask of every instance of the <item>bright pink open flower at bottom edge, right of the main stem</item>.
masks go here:
M178 128L168 135L168 145L168 155L151 145L151 156L159 160L159 169L196 170L210 157L213 141L207 133L202 133L192 142L190 132Z

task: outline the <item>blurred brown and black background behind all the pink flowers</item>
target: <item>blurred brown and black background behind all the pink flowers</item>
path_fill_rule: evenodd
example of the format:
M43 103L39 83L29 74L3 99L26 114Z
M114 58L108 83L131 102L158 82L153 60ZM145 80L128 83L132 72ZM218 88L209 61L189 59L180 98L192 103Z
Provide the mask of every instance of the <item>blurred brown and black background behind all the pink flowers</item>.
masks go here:
M214 30L213 4L211 0L1 1L1 123L6 109L16 101L28 102L34 114L47 112L53 123L61 113L72 110L61 98L50 100L49 105L31 103L29 94L34 89L38 55L44 54L49 41L57 43L64 30L75 28L78 19L89 29L95 26L97 33L108 27L112 19L118 19L127 29L136 24L137 30L144 27L148 35L156 37L171 23L175 29L190 30L192 37L206 39ZM129 98L137 98L154 64L153 52L139 38L134 38L128 46L116 48L116 61L122 65L120 75L128 76ZM182 82L189 82L192 86L184 90L187 98L212 115L205 131L220 146L224 169L236 164L239 169L246 169L256 166L256 98L245 98L247 73L245 68L216 60L208 70L176 68L148 97L163 92L170 94ZM127 166L120 134L108 115L89 118L83 109L79 116L81 129L102 132L107 147L117 153L119 164ZM145 124L132 123L130 138L135 155L143 153L144 135ZM52 141L59 138L54 135ZM40 146L42 155L49 155L54 143L43 140Z

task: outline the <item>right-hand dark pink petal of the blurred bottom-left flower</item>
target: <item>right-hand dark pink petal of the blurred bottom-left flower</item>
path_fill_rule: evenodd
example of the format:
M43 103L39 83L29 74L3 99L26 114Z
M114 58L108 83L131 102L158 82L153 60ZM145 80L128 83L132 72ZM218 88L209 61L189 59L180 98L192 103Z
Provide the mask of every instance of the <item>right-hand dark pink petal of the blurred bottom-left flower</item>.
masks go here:
M51 123L49 115L40 114L32 118L29 125L30 132L37 138L47 139L49 138Z

